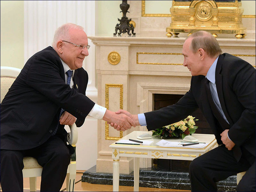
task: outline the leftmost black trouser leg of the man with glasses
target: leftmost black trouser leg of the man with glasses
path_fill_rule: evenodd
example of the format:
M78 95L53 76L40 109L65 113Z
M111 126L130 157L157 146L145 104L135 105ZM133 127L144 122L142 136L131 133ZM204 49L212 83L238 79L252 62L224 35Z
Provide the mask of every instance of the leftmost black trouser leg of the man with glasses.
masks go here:
M2 191L23 191L23 154L21 151L1 150Z

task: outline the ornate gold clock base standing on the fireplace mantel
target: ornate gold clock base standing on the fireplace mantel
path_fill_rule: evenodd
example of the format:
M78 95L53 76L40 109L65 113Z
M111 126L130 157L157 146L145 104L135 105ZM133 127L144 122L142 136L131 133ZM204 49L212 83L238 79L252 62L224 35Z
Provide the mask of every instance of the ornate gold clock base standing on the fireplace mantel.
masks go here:
M236 34L236 38L245 36L241 1L174 0L170 11L172 22L166 28L168 37L179 33L190 35L198 30L208 31L215 37L217 34Z

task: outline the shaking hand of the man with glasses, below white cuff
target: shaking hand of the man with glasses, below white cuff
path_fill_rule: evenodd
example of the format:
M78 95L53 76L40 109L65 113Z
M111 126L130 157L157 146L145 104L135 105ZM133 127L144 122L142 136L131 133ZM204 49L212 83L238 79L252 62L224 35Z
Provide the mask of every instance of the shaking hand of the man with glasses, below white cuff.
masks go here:
M130 129L132 126L136 127L136 124L131 117L122 113L116 114L115 112L109 110L106 110L106 113L103 116L103 120L116 124L117 131L125 131Z

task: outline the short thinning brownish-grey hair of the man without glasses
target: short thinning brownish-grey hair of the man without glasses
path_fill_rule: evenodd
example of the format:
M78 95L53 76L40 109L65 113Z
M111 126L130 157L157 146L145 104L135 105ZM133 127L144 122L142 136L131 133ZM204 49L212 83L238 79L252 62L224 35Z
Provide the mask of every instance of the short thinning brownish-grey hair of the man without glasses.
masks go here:
M217 39L207 31L196 31L188 36L188 38L193 38L189 47L193 53L196 53L200 48L211 58L217 57L222 53Z

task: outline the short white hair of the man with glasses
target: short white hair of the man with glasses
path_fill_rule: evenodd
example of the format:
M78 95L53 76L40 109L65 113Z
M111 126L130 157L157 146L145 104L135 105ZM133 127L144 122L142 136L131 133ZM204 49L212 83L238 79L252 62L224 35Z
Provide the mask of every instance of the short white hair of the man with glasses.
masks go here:
M58 41L62 41L62 40L70 41L70 36L69 36L70 29L84 30L84 28L82 26L76 25L74 23L66 23L64 25L61 25L59 28L56 29L56 31L54 33L54 37L53 37L53 41L52 41L53 49L56 48Z

